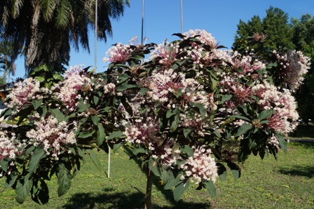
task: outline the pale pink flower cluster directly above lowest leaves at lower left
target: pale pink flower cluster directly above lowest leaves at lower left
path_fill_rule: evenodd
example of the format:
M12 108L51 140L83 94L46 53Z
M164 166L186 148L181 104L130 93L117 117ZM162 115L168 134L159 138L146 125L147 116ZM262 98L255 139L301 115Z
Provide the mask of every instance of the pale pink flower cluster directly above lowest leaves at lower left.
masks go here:
M76 136L73 130L69 130L66 121L58 123L57 119L49 116L48 119L35 121L35 129L29 130L26 136L29 138L29 144L34 146L43 146L47 155L53 156L58 160L60 151L67 150L68 144L76 143ZM70 151L69 151L70 152Z

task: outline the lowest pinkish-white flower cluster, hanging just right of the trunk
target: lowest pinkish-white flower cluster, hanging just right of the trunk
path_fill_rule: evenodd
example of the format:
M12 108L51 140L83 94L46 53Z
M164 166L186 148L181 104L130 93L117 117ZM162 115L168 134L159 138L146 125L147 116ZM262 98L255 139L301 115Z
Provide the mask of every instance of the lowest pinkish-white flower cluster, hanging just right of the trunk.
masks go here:
M214 158L212 158L211 150L205 149L203 146L194 149L193 156L190 156L182 165L185 175L181 176L181 180L188 179L191 182L200 183L202 180L215 182L218 177L218 170Z

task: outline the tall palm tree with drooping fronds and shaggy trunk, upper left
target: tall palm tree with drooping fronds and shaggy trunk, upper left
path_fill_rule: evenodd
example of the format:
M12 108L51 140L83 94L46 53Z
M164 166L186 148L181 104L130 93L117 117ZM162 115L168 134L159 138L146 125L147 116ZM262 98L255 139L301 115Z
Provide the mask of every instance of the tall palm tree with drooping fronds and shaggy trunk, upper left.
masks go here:
M123 15L129 0L1 0L0 33L14 40L14 55L23 46L27 73L41 65L55 71L69 62L71 44L88 50L88 30L107 41L112 36L111 18Z

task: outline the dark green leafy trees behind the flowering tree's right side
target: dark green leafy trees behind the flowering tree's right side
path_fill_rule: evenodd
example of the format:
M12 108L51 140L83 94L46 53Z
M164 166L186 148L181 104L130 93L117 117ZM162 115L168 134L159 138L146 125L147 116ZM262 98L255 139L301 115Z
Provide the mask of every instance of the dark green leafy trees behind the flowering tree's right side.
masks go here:
M256 15L247 22L240 20L233 50L238 50L240 53L254 53L258 59L267 57L268 60L275 62L278 56L273 53L273 50L277 50L277 53L285 53L295 48L313 60L313 34L314 20L311 15L302 15L300 19L292 18L291 21L288 21L287 13L279 8L271 7L266 11L266 17L263 20ZM287 79L280 65L273 65L268 70L278 75L274 81L277 84ZM312 64L305 79L300 81L304 84L295 92L299 114L306 122L308 119L314 119L313 73Z

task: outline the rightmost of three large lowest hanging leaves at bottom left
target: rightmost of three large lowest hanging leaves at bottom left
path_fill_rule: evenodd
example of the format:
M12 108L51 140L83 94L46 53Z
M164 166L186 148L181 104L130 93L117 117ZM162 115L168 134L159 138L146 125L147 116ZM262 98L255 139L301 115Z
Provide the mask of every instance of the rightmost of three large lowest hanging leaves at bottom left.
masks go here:
M71 187L71 173L70 170L64 166L63 163L60 163L57 168L57 195L62 196L67 193Z

